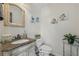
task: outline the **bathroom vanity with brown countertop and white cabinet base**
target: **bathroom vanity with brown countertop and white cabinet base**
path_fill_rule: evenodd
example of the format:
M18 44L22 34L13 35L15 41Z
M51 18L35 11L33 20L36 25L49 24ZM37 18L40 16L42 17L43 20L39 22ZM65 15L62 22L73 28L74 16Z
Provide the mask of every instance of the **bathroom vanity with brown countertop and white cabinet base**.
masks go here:
M26 39L27 40L27 39ZM35 41L28 39L29 41L12 44L6 43L2 45L2 56L35 56Z

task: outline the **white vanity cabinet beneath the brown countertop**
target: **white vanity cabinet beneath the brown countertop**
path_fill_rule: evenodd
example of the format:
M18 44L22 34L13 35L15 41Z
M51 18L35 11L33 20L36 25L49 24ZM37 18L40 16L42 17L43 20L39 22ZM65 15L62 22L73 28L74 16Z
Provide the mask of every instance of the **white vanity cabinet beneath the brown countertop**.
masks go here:
M35 42L17 47L8 52L3 52L4 56L35 56Z

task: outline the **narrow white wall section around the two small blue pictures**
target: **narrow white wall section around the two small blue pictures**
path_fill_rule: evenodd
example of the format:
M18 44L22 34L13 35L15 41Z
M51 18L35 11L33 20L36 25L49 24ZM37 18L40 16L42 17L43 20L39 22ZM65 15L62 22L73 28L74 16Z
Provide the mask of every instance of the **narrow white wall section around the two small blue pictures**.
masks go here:
M39 17L39 20L40 20L40 8L41 6L38 7L37 4L29 4L30 5L30 10L29 10L29 13L30 15L28 16L29 17L29 20L28 20L28 25L27 25L27 35L28 37L31 37L31 38L35 38L35 35L36 34L40 34L40 22L39 23L31 23L31 17Z

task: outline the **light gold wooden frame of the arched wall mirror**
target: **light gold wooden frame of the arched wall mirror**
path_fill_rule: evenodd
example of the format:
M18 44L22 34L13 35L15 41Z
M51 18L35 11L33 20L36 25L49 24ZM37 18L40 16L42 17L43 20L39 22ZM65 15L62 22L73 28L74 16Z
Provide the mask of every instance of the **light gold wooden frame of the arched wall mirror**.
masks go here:
M21 11L21 14L20 14L21 16L15 14L18 17L22 17L21 21L20 22L18 21L18 23L10 22L10 20L13 20L12 15L10 14L10 6L11 5L19 8L20 11ZM25 11L20 6L18 6L17 4L4 3L3 4L3 16L4 16L4 25L5 26L11 26L11 27L24 27L25 26Z

